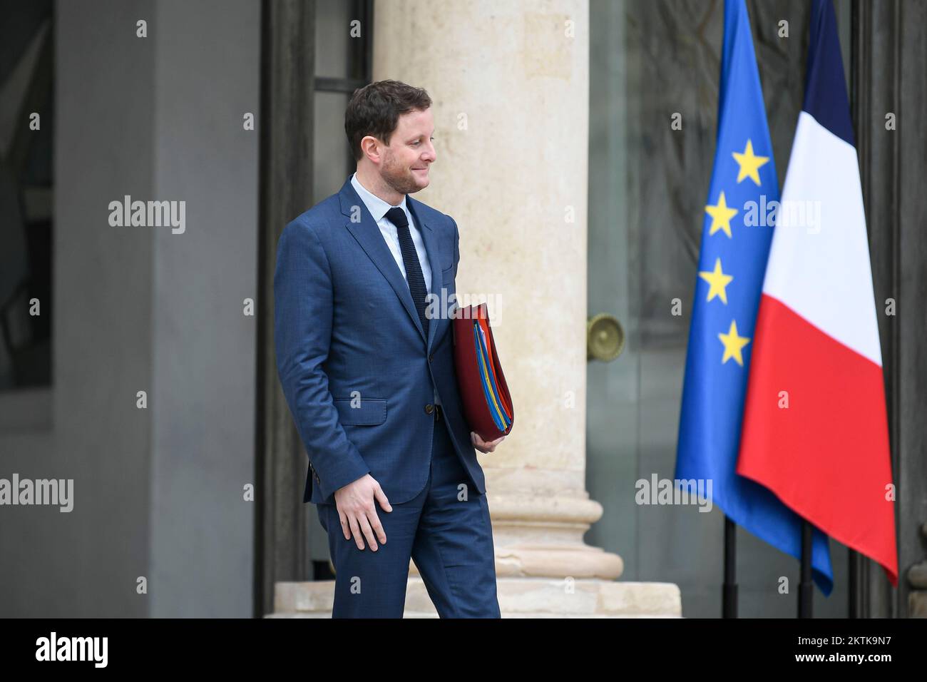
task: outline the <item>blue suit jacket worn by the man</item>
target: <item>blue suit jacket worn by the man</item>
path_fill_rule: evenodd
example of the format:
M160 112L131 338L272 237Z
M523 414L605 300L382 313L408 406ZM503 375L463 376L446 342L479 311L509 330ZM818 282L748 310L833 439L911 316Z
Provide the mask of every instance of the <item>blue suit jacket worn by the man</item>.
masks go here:
M274 346L309 455L303 502L333 504L338 488L368 472L391 504L418 495L430 470L434 388L454 449L477 491L486 492L462 412L447 313L460 234L451 216L406 201L431 264L437 302L429 317L441 315L429 318L427 339L409 285L350 177L287 224L277 244Z

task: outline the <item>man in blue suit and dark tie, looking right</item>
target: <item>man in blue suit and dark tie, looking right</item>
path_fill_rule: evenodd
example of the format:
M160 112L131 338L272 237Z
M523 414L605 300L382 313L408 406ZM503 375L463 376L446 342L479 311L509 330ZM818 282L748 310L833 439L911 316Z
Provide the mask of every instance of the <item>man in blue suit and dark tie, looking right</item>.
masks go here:
M430 107L396 81L355 91L345 132L357 171L277 247L277 369L310 460L303 502L328 534L336 618L402 617L410 558L442 618L500 617L474 447L502 438L483 442L461 405L460 235L407 196L435 161Z

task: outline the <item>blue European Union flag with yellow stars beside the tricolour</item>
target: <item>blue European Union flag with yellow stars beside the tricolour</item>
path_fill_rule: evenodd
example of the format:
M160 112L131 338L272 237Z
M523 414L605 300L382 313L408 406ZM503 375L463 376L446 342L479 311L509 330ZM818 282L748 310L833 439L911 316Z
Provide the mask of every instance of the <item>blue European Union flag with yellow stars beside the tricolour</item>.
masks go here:
M692 306L676 478L710 480L713 501L732 521L797 559L802 519L768 488L735 472L751 341L779 204L744 0L724 4L717 109L715 167ZM815 583L829 595L833 573L828 538L817 528L811 566Z

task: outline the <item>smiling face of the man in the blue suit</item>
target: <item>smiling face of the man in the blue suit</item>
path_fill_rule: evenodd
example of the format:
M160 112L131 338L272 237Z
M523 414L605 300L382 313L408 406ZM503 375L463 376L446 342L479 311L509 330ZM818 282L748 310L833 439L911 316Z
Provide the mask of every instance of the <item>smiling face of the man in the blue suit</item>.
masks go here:
M434 133L430 108L400 114L380 166L380 177L389 187L400 194L428 187L428 166L435 161L435 148L431 144Z

